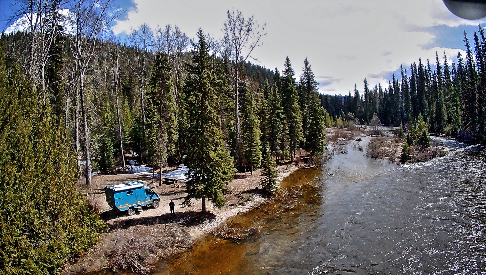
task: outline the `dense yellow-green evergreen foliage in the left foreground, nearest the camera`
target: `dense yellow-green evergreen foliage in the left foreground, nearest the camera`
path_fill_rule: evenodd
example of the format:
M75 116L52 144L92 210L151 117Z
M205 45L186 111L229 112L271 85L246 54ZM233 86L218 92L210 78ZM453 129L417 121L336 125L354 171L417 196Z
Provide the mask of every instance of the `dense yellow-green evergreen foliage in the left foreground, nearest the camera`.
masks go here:
M104 228L76 191L77 158L47 100L0 53L0 270L57 274Z

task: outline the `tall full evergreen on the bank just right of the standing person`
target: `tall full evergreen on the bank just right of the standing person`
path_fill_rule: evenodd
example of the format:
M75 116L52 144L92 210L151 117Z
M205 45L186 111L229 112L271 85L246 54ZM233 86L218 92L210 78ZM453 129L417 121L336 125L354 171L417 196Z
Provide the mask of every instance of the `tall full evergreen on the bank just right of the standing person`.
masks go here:
M208 45L204 33L199 29L197 49L192 58L194 65L188 65L189 73L184 85L187 108L185 163L189 170L186 181L187 196L183 205L190 206L191 199L201 198L202 211L206 211L206 197L215 207L223 207L223 190L233 180L233 158L223 142L217 114L218 98L212 61L208 56Z

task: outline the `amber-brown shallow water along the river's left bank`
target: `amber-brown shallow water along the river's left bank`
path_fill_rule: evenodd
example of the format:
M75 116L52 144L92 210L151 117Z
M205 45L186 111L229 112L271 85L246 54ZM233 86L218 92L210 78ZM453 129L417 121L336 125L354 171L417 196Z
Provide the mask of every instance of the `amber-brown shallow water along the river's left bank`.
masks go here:
M251 210L232 218L228 223L249 227L253 223L264 223L262 231L255 237L240 243L218 240L208 235L190 250L180 253L170 260L160 262L153 274L253 274L264 272L265 267L257 267L262 254L267 255L268 263L277 260L289 250L298 249L300 234L307 230L302 219L316 219L321 198L317 191L320 169L296 171L285 178L281 185L292 187L302 185L302 197L297 202L275 204L276 210L269 207ZM271 207L270 207L271 208ZM277 235L279 238L275 238ZM283 248L283 249L279 249Z

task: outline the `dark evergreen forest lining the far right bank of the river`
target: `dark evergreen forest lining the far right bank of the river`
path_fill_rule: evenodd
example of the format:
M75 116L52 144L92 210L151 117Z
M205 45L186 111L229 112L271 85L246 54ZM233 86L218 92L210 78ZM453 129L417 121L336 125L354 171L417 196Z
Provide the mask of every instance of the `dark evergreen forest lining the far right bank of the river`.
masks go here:
M448 64L436 53L435 61L417 63L401 75L392 76L388 87L369 87L363 81L364 97L356 84L347 96L321 95L321 102L331 116L342 120L359 119L369 124L377 114L385 125L410 125L421 115L430 131L457 137L468 143L486 141L486 38L482 27L474 32L471 48L464 32L466 56L457 54L457 64ZM435 69L431 63L434 62Z

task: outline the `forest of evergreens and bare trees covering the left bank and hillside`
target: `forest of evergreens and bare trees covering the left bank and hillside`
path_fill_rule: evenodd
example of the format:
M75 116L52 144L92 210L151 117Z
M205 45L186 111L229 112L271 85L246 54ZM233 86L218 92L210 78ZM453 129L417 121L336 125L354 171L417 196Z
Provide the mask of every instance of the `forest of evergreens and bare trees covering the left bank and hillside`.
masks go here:
M109 35L111 1L19 4L38 16L0 36L6 274L54 274L96 242L103 226L75 181L89 185L93 173L125 167L127 152L155 168L185 163L186 203L208 198L221 207L234 171L265 158L292 161L300 148L324 150L330 119L309 61L297 83L289 58L281 75L246 60L266 34L253 17L228 11L220 39L200 30L192 41L177 26L144 24L118 41Z

